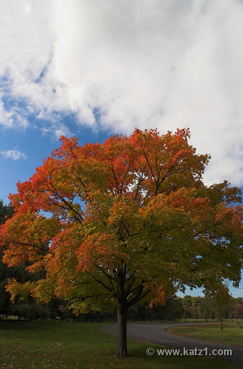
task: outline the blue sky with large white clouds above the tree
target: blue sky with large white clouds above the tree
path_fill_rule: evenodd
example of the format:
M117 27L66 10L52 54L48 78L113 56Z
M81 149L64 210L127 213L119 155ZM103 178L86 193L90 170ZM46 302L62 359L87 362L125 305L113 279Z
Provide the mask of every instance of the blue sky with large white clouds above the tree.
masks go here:
M243 188L242 19L243 0L0 0L0 199L60 135L135 128L188 127L206 185Z

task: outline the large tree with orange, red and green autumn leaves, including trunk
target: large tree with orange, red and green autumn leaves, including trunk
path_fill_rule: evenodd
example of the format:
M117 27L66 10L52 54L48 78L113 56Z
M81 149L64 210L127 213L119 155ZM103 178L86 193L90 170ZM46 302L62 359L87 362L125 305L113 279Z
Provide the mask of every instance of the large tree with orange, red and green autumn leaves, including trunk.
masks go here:
M207 187L210 157L196 154L189 131L136 129L104 144L62 145L10 195L15 208L1 229L8 265L31 261L46 278L19 285L40 302L72 300L76 313L117 306L118 357L127 355L130 306L163 303L176 290L215 294L242 268L240 190ZM45 251L45 252L43 252Z

